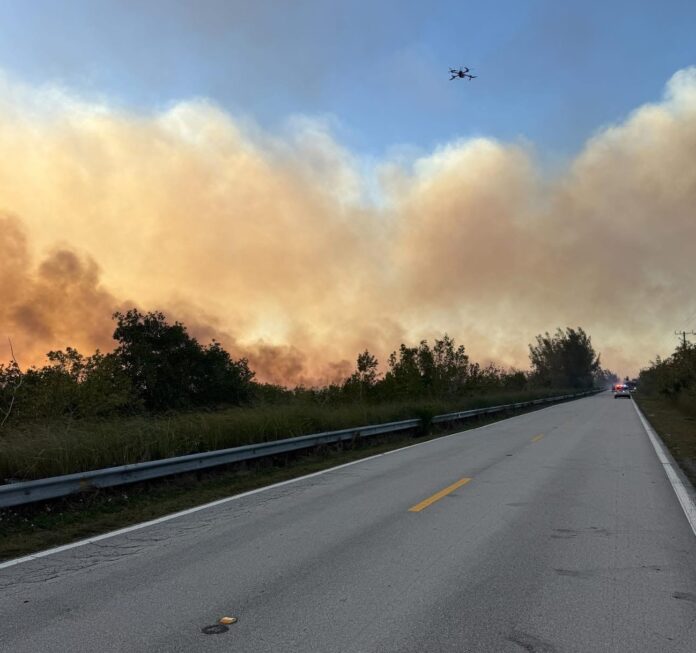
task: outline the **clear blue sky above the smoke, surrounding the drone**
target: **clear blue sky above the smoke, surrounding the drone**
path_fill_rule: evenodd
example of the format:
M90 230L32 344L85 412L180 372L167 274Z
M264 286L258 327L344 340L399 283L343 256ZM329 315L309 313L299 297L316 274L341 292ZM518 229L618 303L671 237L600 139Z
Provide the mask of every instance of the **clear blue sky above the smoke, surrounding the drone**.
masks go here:
M135 109L205 96L354 152L523 138L550 157L696 62L696 2L0 0L0 68ZM449 82L449 66L479 78Z

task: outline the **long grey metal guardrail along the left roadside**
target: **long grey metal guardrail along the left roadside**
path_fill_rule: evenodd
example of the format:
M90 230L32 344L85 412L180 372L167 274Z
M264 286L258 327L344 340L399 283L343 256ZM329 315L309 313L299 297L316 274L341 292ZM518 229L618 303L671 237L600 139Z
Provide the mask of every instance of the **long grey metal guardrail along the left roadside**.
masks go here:
M595 394L595 392L595 390L591 390L572 395L546 397L544 399L534 399L532 401L523 401L516 404L489 406L488 408L476 408L474 410L448 413L446 415L436 415L431 419L431 423L442 424L457 422L480 415L492 415L538 404L577 399ZM79 472L77 474L41 478L35 481L9 483L0 485L0 508L9 508L33 503L35 501L44 501L46 499L55 499L92 488L114 487L116 485L147 481L153 478L171 476L173 474L195 472L210 467L217 467L219 465L227 465L229 463L265 458L267 456L291 453L303 449L312 449L322 444L336 444L386 433L412 431L422 427L422 425L423 420L420 418L407 419L399 422L388 422L386 424L374 424L372 426L360 426L342 429L340 431L327 431L324 433L315 433L313 435L303 435L296 438L274 440L272 442L248 444L230 449L205 451L203 453L177 456L175 458L164 458L162 460L151 460L143 463L120 465L118 467L107 467L105 469Z

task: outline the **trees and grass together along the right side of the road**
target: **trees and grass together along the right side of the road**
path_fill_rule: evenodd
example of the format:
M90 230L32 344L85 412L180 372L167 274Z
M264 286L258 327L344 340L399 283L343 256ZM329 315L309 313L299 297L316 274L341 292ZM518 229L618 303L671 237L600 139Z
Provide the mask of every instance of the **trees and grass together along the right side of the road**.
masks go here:
M684 342L642 370L635 399L696 486L696 345Z

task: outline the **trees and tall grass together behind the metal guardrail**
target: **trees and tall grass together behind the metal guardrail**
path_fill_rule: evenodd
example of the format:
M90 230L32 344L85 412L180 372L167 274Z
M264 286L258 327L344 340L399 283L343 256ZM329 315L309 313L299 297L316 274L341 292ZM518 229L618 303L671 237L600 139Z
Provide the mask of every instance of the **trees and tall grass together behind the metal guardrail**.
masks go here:
M154 460L319 431L513 403L604 385L582 329L537 336L531 370L472 362L444 335L402 344L380 374L369 351L320 388L258 383L245 359L162 313L114 315L115 348L0 365L0 482Z

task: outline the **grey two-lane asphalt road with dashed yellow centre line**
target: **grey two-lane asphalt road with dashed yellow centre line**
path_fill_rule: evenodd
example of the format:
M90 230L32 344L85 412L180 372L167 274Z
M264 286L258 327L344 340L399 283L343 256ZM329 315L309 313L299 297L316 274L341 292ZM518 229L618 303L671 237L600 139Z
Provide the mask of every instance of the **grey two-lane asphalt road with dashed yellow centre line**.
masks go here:
M12 653L696 650L696 537L609 394L6 567L0 590Z

